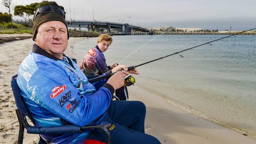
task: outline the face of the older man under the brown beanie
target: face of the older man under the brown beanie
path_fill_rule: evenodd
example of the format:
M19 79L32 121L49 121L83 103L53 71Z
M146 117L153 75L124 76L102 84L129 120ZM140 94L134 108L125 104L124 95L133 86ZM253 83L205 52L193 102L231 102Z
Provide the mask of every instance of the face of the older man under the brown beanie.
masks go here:
M49 54L63 59L63 52L67 48L67 27L60 21L49 21L38 27L35 44Z

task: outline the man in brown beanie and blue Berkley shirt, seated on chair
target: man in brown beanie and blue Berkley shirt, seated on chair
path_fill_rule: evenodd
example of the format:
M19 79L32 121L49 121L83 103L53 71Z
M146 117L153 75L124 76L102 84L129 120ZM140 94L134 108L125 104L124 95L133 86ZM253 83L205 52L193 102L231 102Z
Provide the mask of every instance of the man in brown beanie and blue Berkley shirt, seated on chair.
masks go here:
M91 84L79 66L63 54L68 39L65 11L53 6L35 11L35 44L22 61L17 78L35 125L101 124L109 129L112 144L159 144L155 137L144 133L146 108L142 102L111 101L114 90L124 85L125 76L139 74L137 70L127 72L127 67L120 65L106 72L116 72L109 79ZM53 144L104 144L107 140L100 129L40 136Z

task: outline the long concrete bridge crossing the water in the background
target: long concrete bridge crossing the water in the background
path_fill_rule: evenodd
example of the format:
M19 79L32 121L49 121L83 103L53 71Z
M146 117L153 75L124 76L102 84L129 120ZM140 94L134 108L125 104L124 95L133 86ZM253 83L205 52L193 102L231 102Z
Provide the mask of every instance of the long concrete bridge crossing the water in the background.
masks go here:
M18 24L27 23L24 20L13 20L13 22ZM81 30L81 28L85 28L86 31L107 32L111 35L153 34L153 31L141 28L139 26L115 22L103 22L96 20L66 20L66 23L68 27L78 28L79 30ZM32 23L29 22L29 24Z

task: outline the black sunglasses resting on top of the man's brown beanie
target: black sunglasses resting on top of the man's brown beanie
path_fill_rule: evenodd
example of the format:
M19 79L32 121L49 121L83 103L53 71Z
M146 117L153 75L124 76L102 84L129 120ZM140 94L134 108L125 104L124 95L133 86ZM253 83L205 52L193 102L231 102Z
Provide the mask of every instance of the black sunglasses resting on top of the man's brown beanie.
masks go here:
M38 13L50 13L52 12L52 9L54 9L54 11L60 15L63 15L63 17L65 18L65 14L66 12L59 8L59 7L55 7L55 6L41 6L39 7L36 11L35 11L35 16L33 18L33 22L35 21L35 18L37 17Z

